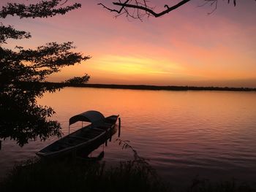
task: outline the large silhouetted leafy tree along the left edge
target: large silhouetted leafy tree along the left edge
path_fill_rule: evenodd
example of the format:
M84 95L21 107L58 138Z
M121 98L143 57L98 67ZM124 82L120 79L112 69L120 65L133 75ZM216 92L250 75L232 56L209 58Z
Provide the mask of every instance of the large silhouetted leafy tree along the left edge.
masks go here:
M61 4L61 0L39 1L29 5L8 3L1 7L0 18L8 15L19 18L48 18L64 15L81 6L75 3L63 7L64 3ZM37 97L46 91L54 92L64 84L48 85L41 82L64 66L79 64L90 58L73 52L75 47L72 42L49 42L34 50L18 46L15 50L3 47L7 39L30 37L29 32L18 31L2 23L0 25L0 138L10 137L17 140L20 146L37 137L46 139L52 135L61 136L60 124L48 120L54 113L53 109L38 105ZM78 79L80 83L87 82L89 75Z

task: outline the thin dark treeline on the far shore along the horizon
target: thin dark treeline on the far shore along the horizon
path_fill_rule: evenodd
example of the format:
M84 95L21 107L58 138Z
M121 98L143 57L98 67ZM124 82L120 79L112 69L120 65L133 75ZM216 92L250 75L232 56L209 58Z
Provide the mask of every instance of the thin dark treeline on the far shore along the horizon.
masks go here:
M113 85L113 84L67 84L64 82L43 82L48 85L61 85L82 88L118 88L136 90L166 90L166 91L256 91L256 88L229 88L229 87L194 87L194 86L157 86L157 85Z

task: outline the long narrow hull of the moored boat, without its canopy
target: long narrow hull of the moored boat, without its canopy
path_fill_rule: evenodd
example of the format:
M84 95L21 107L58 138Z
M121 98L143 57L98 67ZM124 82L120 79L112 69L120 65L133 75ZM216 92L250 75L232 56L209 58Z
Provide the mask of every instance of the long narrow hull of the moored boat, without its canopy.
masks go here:
M64 155L77 155L77 153L90 153L92 150L107 141L113 134L118 115L105 118L104 123L95 127L91 125L78 129L47 147L39 150L36 154L41 158L58 158Z

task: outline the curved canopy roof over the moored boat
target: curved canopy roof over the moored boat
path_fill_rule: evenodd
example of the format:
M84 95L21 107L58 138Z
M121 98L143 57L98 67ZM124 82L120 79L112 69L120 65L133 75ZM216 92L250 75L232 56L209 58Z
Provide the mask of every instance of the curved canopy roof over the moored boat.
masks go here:
M69 126L78 121L86 121L86 122L91 122L91 124L95 124L95 123L102 123L102 121L104 120L105 120L105 117L104 115L102 115L101 112L91 110L91 111L82 112L81 114L75 115L72 118L70 118Z

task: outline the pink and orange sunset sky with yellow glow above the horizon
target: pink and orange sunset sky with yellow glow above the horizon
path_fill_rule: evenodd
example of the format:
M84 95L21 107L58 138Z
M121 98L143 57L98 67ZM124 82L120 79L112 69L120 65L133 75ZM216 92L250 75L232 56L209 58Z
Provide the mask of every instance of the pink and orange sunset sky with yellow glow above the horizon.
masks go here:
M0 6L7 1L1 0ZM20 2L20 1L12 1ZM24 1L26 3L33 1ZM256 2L219 1L217 9L192 0L161 18L115 18L113 12L86 0L82 8L53 18L0 22L30 31L31 39L8 40L34 48L47 42L74 42L75 51L90 55L88 61L65 67L47 80L91 76L89 83L132 85L192 85L256 87ZM156 11L174 1L154 1Z

